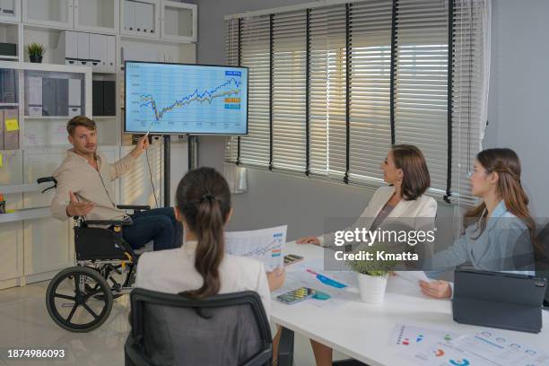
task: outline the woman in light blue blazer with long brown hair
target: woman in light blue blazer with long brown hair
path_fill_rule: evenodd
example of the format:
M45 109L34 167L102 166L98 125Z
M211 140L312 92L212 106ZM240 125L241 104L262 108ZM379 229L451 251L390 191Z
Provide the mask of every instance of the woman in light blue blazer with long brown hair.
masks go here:
M476 156L473 196L483 202L467 211L464 232L452 246L435 253L434 271L470 264L477 269L533 274L535 222L520 184L520 161L510 149L487 149ZM422 292L450 298L451 283L421 281Z

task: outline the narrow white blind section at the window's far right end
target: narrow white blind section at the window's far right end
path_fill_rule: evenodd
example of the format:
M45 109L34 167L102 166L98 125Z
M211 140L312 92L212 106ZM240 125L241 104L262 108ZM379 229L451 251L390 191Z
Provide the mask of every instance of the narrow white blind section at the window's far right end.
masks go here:
M490 62L488 0L454 0L451 191L473 203L467 173L473 171L486 123Z

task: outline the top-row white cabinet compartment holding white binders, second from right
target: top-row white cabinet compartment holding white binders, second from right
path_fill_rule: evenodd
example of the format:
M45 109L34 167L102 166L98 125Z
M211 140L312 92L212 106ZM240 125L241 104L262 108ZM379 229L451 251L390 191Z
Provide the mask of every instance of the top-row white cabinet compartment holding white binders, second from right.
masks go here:
M122 0L120 33L160 38L161 0Z

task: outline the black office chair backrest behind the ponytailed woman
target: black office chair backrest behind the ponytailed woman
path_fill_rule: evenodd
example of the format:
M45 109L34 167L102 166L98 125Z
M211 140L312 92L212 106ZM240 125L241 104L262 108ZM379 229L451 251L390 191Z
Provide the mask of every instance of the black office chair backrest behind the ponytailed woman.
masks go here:
M136 288L130 301L126 366L272 363L273 339L257 292L191 300Z

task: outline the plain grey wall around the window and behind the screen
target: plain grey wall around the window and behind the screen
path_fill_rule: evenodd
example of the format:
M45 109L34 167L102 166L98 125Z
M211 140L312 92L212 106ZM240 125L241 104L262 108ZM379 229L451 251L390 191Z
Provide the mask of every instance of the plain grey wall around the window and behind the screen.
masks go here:
M224 63L223 16L309 1L196 0L198 4L197 61ZM545 113L549 93L549 1L493 0L490 125L484 146L509 146L520 156L523 183L537 215L549 216L546 161L549 123ZM222 170L224 138L201 137L199 164ZM356 216L370 199L365 188L345 187L313 179L248 170L248 192L234 196L231 230L250 230L289 223L290 240L323 230L325 217ZM453 210L439 204L438 217Z

